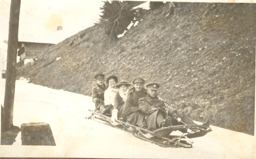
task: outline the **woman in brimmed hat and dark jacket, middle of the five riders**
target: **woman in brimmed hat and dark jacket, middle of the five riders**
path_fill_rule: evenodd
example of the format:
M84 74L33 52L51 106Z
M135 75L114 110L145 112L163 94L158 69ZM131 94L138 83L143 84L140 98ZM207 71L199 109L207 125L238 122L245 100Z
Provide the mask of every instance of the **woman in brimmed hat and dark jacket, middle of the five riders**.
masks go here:
M115 119L122 117L124 102L126 101L127 93L129 91L128 87L130 86L130 83L123 80L119 81L116 85L116 87L119 88L119 92L115 95L115 105L112 110L111 121L113 123L115 123Z

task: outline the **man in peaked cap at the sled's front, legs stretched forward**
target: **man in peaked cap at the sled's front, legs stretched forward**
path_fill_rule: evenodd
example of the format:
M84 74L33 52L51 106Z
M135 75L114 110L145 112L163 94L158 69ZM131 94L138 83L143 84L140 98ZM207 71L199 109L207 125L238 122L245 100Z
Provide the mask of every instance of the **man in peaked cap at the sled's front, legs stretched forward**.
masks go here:
M139 99L139 110L144 113L146 124L156 130L161 127L173 125L195 124L183 112L177 112L175 109L168 107L165 102L157 96L160 85L152 82L146 85L148 93ZM182 122L181 122L182 121Z

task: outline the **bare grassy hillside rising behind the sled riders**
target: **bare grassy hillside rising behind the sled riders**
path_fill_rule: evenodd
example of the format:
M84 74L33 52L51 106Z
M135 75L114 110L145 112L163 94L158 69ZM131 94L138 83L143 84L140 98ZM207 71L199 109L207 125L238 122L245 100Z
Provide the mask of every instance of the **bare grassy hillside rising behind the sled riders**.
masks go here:
M159 82L159 96L194 120L253 135L256 4L175 6L167 17L168 5L141 11L137 26L115 42L100 24L87 28L49 48L18 76L84 95L90 95L96 73L128 81L143 77Z

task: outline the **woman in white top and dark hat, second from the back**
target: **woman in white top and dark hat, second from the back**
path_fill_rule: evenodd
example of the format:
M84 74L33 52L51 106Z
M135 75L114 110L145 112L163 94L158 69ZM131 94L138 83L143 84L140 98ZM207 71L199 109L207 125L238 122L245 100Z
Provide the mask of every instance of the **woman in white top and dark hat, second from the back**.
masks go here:
M108 88L104 92L104 104L106 105L107 110L104 111L103 114L111 114L110 108L115 105L115 95L119 91L119 89L115 87L118 82L118 78L111 75L107 78L106 82L108 84Z

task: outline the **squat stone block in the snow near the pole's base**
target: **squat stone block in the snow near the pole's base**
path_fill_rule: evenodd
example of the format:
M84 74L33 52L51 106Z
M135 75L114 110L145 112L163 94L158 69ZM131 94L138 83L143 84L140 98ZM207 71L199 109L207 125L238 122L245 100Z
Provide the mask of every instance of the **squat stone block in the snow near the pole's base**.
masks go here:
M44 122L21 124L21 145L56 146L50 125Z

